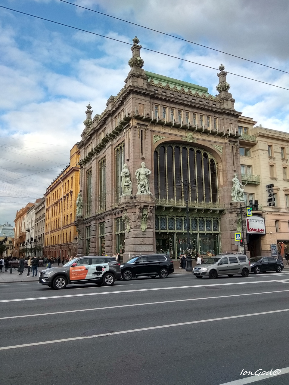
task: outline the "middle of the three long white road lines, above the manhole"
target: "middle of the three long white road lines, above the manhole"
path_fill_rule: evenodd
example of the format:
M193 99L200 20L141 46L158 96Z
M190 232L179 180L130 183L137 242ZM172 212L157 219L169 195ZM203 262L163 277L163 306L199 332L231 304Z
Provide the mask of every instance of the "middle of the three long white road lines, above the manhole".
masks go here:
M186 302L186 301L198 301L198 300L212 300L215 298L230 298L230 297L242 297L246 295L258 295L258 294L271 294L271 293L284 293L289 290L278 290L278 291L262 291L261 293L247 293L247 294L233 294L233 295L220 295L215 297L203 297L203 298L189 298L188 300L171 300L171 301L159 301L159 302L146 302L146 303L134 303L131 305L118 305L118 306L106 306L102 308L91 308L91 309L79 309L79 310L66 310L66 311L54 311L53 313L39 313L39 314L27 314L27 315L15 315L10 317L1 317L0 320L8 320L11 318L27 318L37 317L43 315L54 315L54 314L66 314L66 313L77 313L81 311L93 311L93 310L107 310L117 308L129 308L134 306L146 306L146 305L160 305L161 303L175 303L175 302Z

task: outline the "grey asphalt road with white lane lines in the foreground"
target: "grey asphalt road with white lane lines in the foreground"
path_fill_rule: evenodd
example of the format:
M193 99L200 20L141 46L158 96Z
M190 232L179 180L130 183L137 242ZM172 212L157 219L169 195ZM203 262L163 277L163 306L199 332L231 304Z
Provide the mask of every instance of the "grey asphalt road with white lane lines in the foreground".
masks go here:
M289 272L1 284L0 383L241 385L242 370L282 369L254 379L287 385L288 283Z

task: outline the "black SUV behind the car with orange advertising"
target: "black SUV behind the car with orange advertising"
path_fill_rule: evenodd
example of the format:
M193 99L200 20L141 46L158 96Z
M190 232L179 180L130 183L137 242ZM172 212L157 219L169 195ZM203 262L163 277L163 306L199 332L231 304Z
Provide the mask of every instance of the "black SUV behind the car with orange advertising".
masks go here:
M138 255L121 264L121 276L125 281L143 276L167 278L174 271L171 258L162 254Z

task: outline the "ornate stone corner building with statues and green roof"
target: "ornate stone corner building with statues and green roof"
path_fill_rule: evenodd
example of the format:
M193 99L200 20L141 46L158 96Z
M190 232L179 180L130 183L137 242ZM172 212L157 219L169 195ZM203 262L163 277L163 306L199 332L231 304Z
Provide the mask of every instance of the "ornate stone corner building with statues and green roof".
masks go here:
M241 174L238 118L219 69L218 95L145 71L137 38L123 89L79 142L78 254L235 251L232 179ZM188 197L186 182L188 187ZM187 245L188 198L190 244ZM235 200L235 198L233 198ZM82 206L83 205L83 206Z

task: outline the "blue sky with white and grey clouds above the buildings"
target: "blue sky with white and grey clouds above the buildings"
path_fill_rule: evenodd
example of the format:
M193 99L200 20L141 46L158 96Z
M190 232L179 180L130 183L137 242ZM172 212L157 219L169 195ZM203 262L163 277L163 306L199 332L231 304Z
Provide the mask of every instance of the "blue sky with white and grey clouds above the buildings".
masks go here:
M289 72L287 0L70 0ZM60 0L0 5L289 89L289 74L183 42ZM100 114L129 72L129 45L0 8L0 224L43 196L69 163L88 102ZM144 69L208 87L217 71L141 51ZM228 74L235 108L289 132L289 90Z

